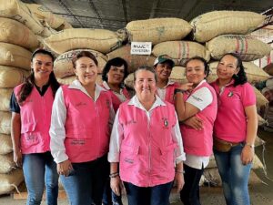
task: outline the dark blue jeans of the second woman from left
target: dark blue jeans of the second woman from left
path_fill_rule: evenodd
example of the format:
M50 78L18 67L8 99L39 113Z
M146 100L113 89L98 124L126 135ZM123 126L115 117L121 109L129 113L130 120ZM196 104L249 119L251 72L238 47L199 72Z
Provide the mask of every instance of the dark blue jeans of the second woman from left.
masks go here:
M68 177L60 176L71 205L101 205L103 190L108 178L106 156L82 163L72 163Z

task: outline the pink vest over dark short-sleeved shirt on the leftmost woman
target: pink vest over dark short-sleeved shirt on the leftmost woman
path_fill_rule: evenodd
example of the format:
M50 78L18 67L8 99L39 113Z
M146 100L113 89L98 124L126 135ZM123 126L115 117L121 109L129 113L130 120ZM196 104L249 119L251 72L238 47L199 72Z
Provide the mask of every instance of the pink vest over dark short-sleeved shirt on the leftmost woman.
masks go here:
M17 100L21 87L22 84L15 87ZM23 154L43 153L50 150L49 128L53 101L51 87L47 88L43 97L36 87L33 87L23 105L19 105L21 117L20 148Z

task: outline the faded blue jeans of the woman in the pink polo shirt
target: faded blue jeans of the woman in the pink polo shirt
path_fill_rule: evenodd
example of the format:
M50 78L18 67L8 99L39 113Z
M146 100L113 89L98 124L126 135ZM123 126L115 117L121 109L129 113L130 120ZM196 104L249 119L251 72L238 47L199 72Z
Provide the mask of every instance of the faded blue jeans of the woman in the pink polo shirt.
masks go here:
M242 164L241 152L243 146L243 144L239 144L227 152L214 150L214 156L222 179L227 205L250 204L248 178L251 164Z

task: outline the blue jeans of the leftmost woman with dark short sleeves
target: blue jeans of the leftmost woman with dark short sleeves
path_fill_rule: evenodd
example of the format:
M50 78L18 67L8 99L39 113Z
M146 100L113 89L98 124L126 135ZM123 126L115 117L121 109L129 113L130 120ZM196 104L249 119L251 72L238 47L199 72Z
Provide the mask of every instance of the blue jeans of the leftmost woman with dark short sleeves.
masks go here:
M46 202L56 205L58 198L58 174L56 163L49 151L23 155L23 171L28 192L27 205L39 205L45 187Z

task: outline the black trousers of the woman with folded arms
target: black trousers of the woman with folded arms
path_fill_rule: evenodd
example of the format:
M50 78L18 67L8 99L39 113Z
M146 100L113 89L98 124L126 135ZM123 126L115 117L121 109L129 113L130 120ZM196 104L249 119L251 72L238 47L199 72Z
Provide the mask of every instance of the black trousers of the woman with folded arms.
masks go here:
M180 191L180 199L184 205L200 205L199 181L204 169L194 169L184 164L185 185Z

